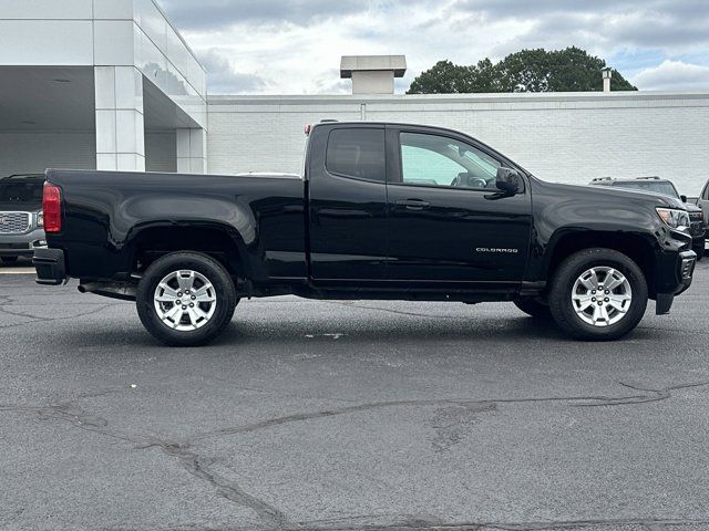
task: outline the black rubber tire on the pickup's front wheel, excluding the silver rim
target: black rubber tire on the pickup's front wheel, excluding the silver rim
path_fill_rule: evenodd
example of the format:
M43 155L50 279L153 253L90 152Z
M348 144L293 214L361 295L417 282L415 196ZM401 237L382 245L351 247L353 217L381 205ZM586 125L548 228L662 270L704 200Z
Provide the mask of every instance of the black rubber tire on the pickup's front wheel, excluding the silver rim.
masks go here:
M604 267L613 268L625 277L631 290L631 299L625 312L620 312L623 316L617 322L599 326L587 323L576 313L572 295L577 279L584 272L589 271L592 268ZM586 295L589 293L592 292L587 292ZM604 301L607 300L605 299L605 291L604 293L600 293L600 291L598 293L604 295ZM572 254L561 263L552 279L548 300L554 320L571 336L584 341L612 341L620 339L634 330L645 315L648 301L647 282L640 268L625 254L612 249L586 249ZM599 305L608 308L603 304L603 301L600 301ZM590 309L594 309L594 306L589 306L588 310ZM610 311L617 312L614 309ZM614 313L614 315L620 313ZM595 315L594 309L593 315L587 319L595 321Z

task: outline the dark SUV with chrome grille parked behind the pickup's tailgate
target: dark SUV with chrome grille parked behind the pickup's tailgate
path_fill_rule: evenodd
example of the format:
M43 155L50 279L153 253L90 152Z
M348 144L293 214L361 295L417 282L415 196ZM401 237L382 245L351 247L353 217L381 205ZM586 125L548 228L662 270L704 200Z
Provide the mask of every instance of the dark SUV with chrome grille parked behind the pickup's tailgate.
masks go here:
M0 259L16 263L47 247L42 216L43 175L12 175L0 179Z

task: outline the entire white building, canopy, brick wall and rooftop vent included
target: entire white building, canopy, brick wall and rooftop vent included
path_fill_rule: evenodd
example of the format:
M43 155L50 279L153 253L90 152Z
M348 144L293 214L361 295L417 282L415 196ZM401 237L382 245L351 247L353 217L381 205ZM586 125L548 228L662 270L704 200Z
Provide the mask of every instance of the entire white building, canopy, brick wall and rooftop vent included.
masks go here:
M0 176L298 173L304 126L335 118L459 129L548 180L659 175L696 196L709 177L709 92L393 95L402 61L345 58L349 96L207 96L153 0L3 0Z

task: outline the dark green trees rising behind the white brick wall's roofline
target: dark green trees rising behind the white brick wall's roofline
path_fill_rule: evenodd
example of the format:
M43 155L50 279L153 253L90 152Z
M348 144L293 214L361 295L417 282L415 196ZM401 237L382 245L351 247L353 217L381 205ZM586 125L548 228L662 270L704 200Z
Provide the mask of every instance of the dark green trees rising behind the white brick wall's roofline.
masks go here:
M603 59L576 46L566 50L522 50L496 64L484 59L461 66L440 61L421 73L408 94L454 94L474 92L584 92L602 91ZM613 71L610 88L637 91L618 71Z

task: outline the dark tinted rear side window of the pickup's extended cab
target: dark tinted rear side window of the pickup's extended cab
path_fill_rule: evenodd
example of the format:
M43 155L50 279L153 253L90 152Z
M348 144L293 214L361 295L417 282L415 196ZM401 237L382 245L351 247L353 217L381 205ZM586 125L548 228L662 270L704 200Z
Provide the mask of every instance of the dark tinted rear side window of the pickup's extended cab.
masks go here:
M387 178L384 129L332 129L325 165L331 174L383 183Z

